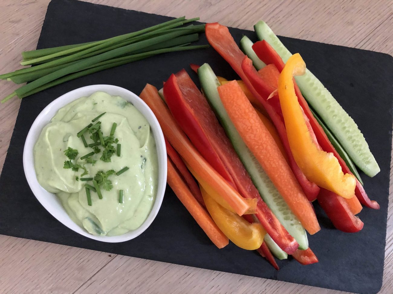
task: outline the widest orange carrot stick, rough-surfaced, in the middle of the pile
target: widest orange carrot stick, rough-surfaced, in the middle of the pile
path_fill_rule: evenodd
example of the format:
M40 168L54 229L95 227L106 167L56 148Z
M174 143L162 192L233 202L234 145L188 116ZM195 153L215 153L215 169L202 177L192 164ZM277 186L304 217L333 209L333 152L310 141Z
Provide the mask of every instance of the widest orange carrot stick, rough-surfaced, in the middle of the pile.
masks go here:
M320 230L314 210L272 135L236 81L219 86L220 98L244 143L262 165L291 211L310 234Z

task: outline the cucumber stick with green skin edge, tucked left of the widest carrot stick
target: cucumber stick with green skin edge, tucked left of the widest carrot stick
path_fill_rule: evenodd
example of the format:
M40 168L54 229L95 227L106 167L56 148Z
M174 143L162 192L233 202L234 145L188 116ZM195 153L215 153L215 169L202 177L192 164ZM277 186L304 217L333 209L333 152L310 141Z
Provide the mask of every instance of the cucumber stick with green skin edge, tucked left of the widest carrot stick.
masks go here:
M217 76L208 64L204 64L198 69L198 77L206 99L217 115L262 199L266 202L288 233L298 241L299 249L307 249L309 247L309 241L305 229L298 218L296 218L289 209L285 200L279 194L272 181L270 181L257 159L243 142L239 132L237 132L235 126L231 122L224 105L222 105L217 91L217 87L220 85Z

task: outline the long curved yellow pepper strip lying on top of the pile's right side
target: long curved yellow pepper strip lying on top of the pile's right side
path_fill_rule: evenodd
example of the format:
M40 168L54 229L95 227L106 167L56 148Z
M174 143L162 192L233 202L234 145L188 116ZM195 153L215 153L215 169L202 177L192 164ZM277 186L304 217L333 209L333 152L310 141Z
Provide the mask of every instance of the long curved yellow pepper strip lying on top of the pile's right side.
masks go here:
M293 82L293 76L304 74L305 69L306 64L296 53L288 59L278 80L278 94L290 149L307 179L344 198L351 198L355 193L355 177L343 173L333 153L318 148L307 128Z

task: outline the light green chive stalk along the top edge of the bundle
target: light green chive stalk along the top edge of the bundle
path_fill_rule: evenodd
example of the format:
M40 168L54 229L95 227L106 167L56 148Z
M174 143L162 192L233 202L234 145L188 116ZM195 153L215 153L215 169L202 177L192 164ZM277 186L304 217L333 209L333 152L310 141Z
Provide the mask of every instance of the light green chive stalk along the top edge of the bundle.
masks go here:
M123 35L120 35L120 36L115 36L115 37L112 37L112 38L109 38L109 39L100 40L100 41L96 41L96 42L89 42L87 44L86 43L85 44L79 44L76 47L67 48L67 49L64 49L64 50L61 50L61 51L50 52L50 50L47 49L46 52L44 52L44 55L41 55L41 56L37 56L37 50L23 52L22 53L23 58L26 59L26 60L29 59L29 61L21 62L21 64L22 65L29 65L29 64L32 64L31 62L33 62L34 60L35 61L47 60L47 59L50 59L50 58L53 58L53 57L67 55L67 54L70 54L70 53L73 53L73 52L81 51L83 49L94 47L96 45L100 45L100 44L107 43L107 42L111 42L112 44L114 44L115 42L121 42L123 40L126 40L128 38L132 38L134 36L139 36L139 35L144 34L144 33L149 33L151 31L155 31L157 29L161 29L161 28L166 27L167 25L170 25L170 24L175 24L177 22L183 22L184 20L185 20L185 17L182 16L182 17L179 17L179 18L176 18L176 19L173 19L173 20L169 20L168 22L163 22L162 24L158 24L158 25L154 25L152 27L148 27L146 29L142 29L140 31L136 31L136 32L128 33L128 34L123 34ZM55 51L56 47L55 48L49 48L49 49L52 49L52 51ZM42 49L42 51L44 51L44 50L45 49ZM42 51L41 51L41 53L42 53Z

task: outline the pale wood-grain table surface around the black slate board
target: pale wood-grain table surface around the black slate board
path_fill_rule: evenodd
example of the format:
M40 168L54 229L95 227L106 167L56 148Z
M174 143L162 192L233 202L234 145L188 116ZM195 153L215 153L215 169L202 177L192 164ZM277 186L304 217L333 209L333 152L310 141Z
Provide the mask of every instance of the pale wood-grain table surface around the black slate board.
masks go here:
M283 36L393 54L392 1L90 0L252 29L265 20ZM49 0L0 0L0 73L33 50ZM17 87L1 81L1 97ZM20 100L0 105L0 169ZM391 174L392 179L392 174ZM389 194L384 282L393 292L393 201ZM0 211L1 213L1 211ZM343 273L345 275L345 273ZM0 293L344 293L0 235Z

